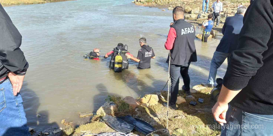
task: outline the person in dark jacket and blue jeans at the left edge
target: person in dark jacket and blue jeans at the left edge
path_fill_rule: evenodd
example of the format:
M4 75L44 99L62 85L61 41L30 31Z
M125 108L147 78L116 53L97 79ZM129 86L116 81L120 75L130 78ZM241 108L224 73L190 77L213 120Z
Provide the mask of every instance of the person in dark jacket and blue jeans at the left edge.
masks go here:
M20 89L28 62L22 36L0 4L0 135L29 135Z

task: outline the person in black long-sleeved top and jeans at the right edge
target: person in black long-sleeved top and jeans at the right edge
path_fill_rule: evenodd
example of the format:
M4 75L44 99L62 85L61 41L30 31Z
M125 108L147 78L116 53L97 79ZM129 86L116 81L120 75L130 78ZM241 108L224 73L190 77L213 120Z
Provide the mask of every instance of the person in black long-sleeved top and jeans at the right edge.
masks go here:
M215 120L223 125L221 136L272 135L272 32L273 0L254 0L212 109Z

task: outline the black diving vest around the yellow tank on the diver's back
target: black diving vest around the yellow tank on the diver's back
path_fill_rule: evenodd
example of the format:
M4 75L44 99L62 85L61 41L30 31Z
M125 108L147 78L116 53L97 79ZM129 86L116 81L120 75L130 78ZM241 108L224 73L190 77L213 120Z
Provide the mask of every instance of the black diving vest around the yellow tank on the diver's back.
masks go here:
M127 46L127 45L124 45L124 47ZM128 49L128 46L127 46L127 49ZM128 69L129 68L129 61L127 59L127 57L125 56L126 53L128 53L128 50L125 49L125 48L122 48L121 46L119 47L116 47L114 48L114 53L110 59L110 62L109 62L109 68L111 69L114 69L114 66L115 66L115 57L118 55L119 53L119 50L121 51L120 52L120 56L122 57L122 70L125 70L125 69Z

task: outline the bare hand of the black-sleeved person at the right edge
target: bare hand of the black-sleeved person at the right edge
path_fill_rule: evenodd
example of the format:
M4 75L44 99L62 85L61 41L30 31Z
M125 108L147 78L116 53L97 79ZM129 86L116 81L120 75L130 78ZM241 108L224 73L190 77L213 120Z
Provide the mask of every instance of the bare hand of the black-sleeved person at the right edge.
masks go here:
M212 108L213 117L220 125L226 123L227 109L228 104L219 104L219 102L217 102Z

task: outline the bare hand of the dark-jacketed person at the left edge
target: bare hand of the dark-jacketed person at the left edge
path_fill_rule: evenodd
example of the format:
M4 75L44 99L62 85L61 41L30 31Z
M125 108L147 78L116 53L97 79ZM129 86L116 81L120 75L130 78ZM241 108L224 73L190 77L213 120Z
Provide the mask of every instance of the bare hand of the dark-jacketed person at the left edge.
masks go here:
M13 87L13 95L16 96L22 88L25 75L16 75L13 72L9 72L7 76L9 77Z

